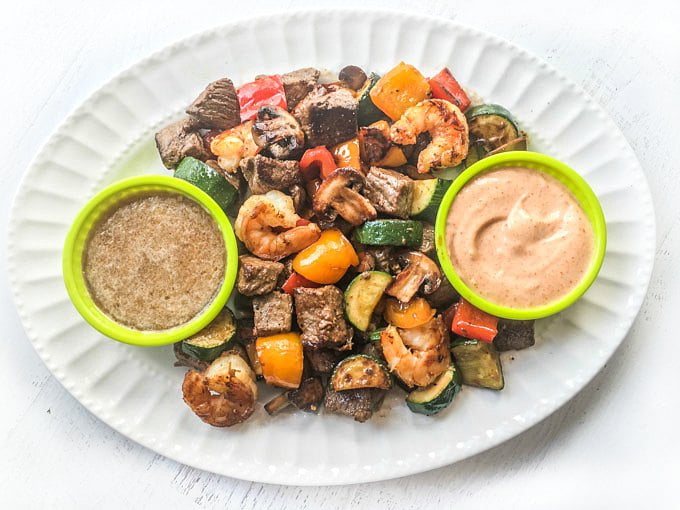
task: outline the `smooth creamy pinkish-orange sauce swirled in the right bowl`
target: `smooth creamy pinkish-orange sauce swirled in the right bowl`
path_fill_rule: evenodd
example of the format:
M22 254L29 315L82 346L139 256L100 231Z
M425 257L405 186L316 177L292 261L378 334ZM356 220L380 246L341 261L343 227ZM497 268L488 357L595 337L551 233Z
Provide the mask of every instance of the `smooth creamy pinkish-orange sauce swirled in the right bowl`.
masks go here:
M516 308L552 303L578 285L592 259L594 235L562 183L528 168L501 168L458 192L446 242L469 287Z

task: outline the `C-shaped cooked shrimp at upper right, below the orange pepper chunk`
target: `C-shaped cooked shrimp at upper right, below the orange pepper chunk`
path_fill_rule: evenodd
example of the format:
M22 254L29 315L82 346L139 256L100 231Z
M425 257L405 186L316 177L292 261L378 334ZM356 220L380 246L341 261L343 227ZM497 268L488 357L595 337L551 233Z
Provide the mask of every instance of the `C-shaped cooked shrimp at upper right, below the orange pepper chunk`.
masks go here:
M416 137L426 131L432 141L418 156L419 173L455 166L467 156L467 120L456 105L442 99L421 101L392 124L390 138L400 145L412 145Z

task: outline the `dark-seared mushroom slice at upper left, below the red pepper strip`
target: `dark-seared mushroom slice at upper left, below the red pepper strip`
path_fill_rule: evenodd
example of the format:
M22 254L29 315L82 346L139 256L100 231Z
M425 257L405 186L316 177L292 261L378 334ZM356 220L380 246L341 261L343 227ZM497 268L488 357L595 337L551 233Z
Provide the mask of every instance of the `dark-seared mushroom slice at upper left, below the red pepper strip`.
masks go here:
M257 112L253 140L276 159L294 158L302 152L305 134L295 117L283 108L267 105Z

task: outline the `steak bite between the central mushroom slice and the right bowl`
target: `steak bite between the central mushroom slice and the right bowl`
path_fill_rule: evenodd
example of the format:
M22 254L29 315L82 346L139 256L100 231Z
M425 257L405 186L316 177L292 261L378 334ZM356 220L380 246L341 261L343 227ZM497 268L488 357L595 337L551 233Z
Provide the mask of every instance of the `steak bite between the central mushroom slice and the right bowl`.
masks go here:
M411 213L413 179L373 166L366 175L364 195L379 212L405 219Z

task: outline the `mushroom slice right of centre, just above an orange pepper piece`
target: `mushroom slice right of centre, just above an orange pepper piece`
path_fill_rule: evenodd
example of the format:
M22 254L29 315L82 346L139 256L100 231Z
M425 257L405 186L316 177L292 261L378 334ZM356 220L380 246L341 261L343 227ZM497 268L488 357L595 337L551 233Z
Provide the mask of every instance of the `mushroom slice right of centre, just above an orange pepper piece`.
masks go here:
M406 303L413 299L421 286L424 294L432 294L439 288L442 273L432 259L418 251L406 252L399 259L406 267L388 287L387 294Z

